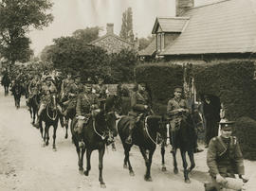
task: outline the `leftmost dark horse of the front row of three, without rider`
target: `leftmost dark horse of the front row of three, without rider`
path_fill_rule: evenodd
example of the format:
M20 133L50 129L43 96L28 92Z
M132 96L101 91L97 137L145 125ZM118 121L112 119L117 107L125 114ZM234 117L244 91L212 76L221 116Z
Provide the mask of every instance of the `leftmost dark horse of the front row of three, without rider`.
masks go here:
M101 106L101 112L97 113L94 117L90 116L88 122L84 124L82 129L82 141L84 142L84 147L79 147L79 138L78 133L75 131L75 128L77 126L77 119L74 118L71 125L71 132L72 132L72 140L73 143L76 146L78 157L79 157L79 170L83 170L83 155L86 150L86 170L83 172L85 176L89 175L89 171L91 169L91 153L93 150L98 149L99 150L99 181L101 183L101 187L105 187L105 183L103 182L102 178L102 168L103 168L103 156L105 152L105 146L108 143L109 137L111 136L111 131L108 127L107 120L110 117L109 115L112 115L113 113L106 113L105 104L104 106Z

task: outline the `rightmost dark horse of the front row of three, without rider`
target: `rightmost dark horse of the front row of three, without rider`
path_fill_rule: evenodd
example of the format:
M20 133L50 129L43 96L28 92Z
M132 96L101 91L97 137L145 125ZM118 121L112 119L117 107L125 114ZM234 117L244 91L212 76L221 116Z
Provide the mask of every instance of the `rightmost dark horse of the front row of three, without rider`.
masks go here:
M194 158L193 158L193 149L195 148L195 131L193 127L193 121L192 121L192 115L191 114L185 114L183 113L182 115L182 120L180 123L180 126L174 131L174 139L176 140L174 143L174 152L173 152L173 157L174 157L174 174L178 173L178 168L177 168L177 161L176 161L176 150L177 148L180 149L180 154L183 162L183 168L184 168L184 178L185 182L190 183L190 178L189 178L189 172L192 171L194 168ZM169 137L170 143L171 141L171 130L169 130ZM186 159L186 152L188 152L190 161L191 161L191 166L189 169L187 159ZM165 154L165 145L162 144L161 147L161 155L162 155L162 171L166 170L165 167L165 160L164 160L164 154Z

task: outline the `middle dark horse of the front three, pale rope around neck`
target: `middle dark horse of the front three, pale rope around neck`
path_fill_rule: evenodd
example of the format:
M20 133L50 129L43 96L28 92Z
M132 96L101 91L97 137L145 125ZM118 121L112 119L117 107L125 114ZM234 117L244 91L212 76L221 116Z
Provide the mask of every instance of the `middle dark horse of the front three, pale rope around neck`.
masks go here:
M123 167L127 168L128 163L130 175L134 176L134 170L129 159L129 151L133 145L137 145L145 160L145 165L147 167L144 179L145 181L150 182L152 181L152 157L155 152L156 145L158 143L159 135L161 137L166 136L166 128L162 126L161 116L150 115L147 116L145 119L140 119L137 122L137 125L134 128L132 134L132 145L128 145L125 143L125 140L129 134L130 120L130 116L123 116L120 118L118 123L119 137L121 139L125 154ZM149 150L149 156L147 156L147 150Z

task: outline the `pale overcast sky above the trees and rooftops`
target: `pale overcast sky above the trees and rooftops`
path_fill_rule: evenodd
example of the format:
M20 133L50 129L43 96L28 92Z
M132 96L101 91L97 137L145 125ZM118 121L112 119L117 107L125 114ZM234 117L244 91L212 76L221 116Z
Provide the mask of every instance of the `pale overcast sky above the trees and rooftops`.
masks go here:
M87 26L101 26L114 23L114 32L119 35L122 12L131 7L133 10L134 33L138 38L151 34L156 16L174 16L175 0L52 0L51 10L54 21L44 30L29 33L31 47L37 56L52 40L70 36L76 29ZM195 6L216 0L194 0ZM101 35L105 31L101 32Z

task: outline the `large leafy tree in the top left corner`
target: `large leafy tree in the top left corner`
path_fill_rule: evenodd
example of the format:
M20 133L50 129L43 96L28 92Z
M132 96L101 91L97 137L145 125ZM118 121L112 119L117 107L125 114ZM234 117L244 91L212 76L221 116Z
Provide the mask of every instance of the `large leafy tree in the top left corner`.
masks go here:
M32 50L26 34L31 27L43 29L53 21L53 16L46 13L51 7L49 0L1 0L1 57L6 58L12 65L15 61L27 61Z

